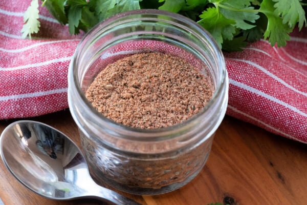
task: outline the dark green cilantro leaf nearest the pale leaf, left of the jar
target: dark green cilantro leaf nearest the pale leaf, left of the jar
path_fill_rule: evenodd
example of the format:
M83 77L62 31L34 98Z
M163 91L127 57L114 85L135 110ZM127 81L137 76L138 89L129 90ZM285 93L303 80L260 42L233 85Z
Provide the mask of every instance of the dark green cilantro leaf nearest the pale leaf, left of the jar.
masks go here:
M45 0L45 6L49 12L58 20L61 25L68 23L67 16L65 15L64 5L66 0Z

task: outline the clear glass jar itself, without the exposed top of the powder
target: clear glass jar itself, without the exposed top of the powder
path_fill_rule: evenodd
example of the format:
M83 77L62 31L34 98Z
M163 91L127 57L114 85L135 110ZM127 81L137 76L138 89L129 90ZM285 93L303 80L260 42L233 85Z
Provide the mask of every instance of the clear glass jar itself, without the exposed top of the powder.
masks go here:
M209 103L166 128L131 128L102 116L84 92L114 61L142 52L186 59L210 77ZM98 24L78 45L69 68L68 100L83 152L100 184L133 194L161 194L192 180L208 159L228 100L225 60L212 36L192 20L160 10L135 10Z

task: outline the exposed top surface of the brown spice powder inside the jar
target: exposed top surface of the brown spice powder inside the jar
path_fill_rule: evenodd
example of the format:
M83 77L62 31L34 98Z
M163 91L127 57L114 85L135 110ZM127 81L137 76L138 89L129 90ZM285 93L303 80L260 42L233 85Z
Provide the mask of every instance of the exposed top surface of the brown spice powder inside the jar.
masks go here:
M109 64L86 91L105 117L136 128L176 125L211 99L211 81L186 60L139 53Z

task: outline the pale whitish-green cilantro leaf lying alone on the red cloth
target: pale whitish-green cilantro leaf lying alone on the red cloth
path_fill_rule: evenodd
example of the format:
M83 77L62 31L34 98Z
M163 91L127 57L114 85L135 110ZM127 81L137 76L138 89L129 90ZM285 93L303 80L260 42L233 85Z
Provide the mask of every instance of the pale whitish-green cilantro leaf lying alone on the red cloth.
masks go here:
M26 38L28 35L31 38L31 34L38 32L40 27L40 23L37 20L39 17L38 13L38 0L32 0L24 14L24 26L21 29L23 38Z

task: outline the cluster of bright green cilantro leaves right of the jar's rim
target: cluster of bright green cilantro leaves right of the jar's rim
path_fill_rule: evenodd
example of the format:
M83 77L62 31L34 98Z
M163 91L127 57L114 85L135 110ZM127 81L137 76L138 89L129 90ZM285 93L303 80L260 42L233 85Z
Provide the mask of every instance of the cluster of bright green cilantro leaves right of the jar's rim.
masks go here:
M259 39L259 36L263 35L264 38L269 38L271 46L277 43L277 46L286 46L287 40L290 39L289 33L292 32L294 26L298 23L299 28L303 26L306 19L305 13L300 4L301 0L263 0L259 5L259 1L253 0L209 0L209 3L214 7L207 8L200 17L199 24L207 29L217 41L218 45L222 47L224 40L227 40L227 44L224 44L223 49L229 51L231 48L242 46L238 44L238 40L243 38L237 38L232 40L231 34L233 30L229 25L240 29L241 35L247 40ZM277 2L277 3L275 3ZM292 5L284 5L293 3ZM295 3L294 3L295 2ZM282 6L281 6L282 4ZM259 9L255 9L256 6L260 6ZM212 9L215 8L215 16L212 14ZM297 9L297 11L295 11ZM267 20L261 20L259 23L256 20L259 18L259 13L266 16ZM222 23L223 19L223 23ZM234 20L235 23L230 23L230 20ZM262 29L261 24L266 22L267 28ZM210 24L213 23L212 24ZM222 27L222 28L221 28ZM256 29L253 29L257 27ZM213 29L212 29L213 28ZM225 30L228 29L228 34L225 35ZM251 34L252 31L256 31L255 34ZM223 35L224 34L224 35ZM239 36L238 36L239 37ZM228 45L228 46L227 46ZM231 49L233 50L233 49Z

